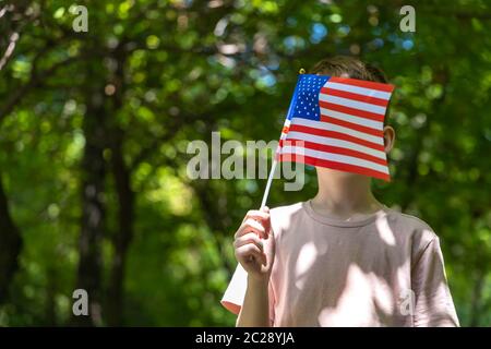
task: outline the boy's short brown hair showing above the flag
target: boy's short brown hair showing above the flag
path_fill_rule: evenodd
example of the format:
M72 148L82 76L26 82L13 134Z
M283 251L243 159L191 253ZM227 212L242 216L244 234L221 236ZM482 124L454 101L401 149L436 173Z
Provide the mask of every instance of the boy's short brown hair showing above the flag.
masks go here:
M351 79L373 81L378 83L388 83L385 74L379 68L364 63L358 58L349 56L335 56L332 58L325 58L309 71L310 74L322 74L332 76L342 76L347 74ZM385 111L384 125L387 123L388 106Z

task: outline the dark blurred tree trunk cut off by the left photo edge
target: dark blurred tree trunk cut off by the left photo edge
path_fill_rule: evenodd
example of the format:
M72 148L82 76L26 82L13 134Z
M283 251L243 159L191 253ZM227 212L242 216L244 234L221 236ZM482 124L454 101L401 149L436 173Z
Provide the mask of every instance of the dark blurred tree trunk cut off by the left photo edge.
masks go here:
M15 272L19 268L19 254L22 238L9 210L0 174L0 304L4 303Z

